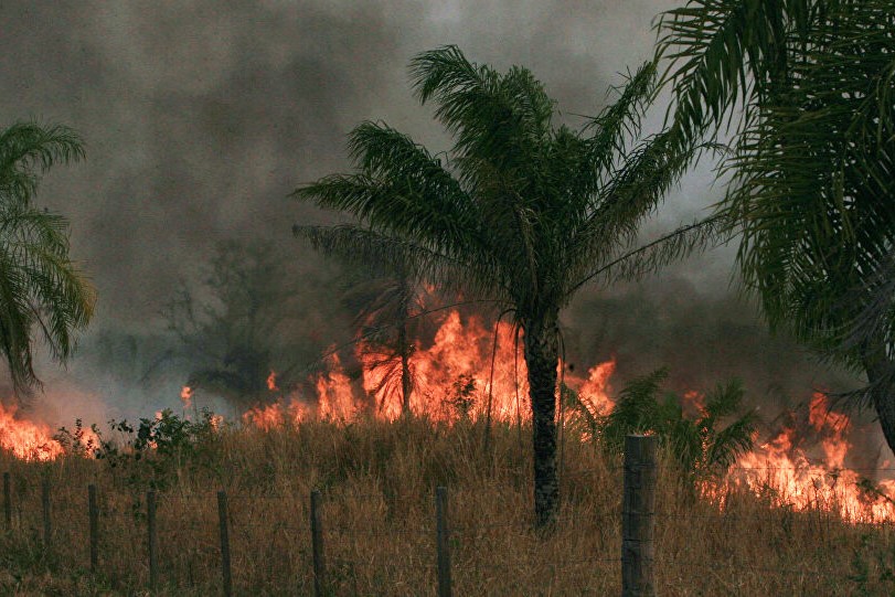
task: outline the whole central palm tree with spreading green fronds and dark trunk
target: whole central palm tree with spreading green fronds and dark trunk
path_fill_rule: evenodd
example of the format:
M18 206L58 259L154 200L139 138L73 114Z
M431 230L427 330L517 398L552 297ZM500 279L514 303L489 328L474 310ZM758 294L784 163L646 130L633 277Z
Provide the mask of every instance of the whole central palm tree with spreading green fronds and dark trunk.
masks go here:
M533 419L535 521L555 520L558 317L586 281L652 270L712 236L685 232L624 256L639 223L693 153L665 134L640 138L656 70L644 64L615 104L574 130L554 126L554 102L525 68L500 73L456 46L417 55L423 104L454 137L433 154L382 122L350 135L356 171L296 191L360 224L297 226L327 253L408 264L408 275L511 309L523 333Z

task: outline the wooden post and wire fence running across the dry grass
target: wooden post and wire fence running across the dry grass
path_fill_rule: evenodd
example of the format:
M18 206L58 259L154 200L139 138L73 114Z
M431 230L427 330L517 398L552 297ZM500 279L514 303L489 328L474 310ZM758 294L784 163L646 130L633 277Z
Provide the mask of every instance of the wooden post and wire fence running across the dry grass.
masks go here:
M657 591L657 574L668 576L669 571L663 569L663 566L673 566L674 571L680 574L682 567L692 568L689 574L703 571L716 571L720 567L734 567L740 569L744 574L760 573L760 574L779 574L779 575L810 575L823 574L827 576L835 576L835 574L828 571L820 569L805 569L805 568L787 568L787 567L763 567L750 564L749 562L731 562L723 557L722 553L715 553L712 561L701 562L683 562L681 558L674 562L662 562L656 557L656 543L657 543L657 522L671 521L674 514L657 512L657 441L653 437L644 436L629 436L625 446L625 463L622 469L622 495L621 495L621 512L603 513L597 519L601 520L606 529L614 527L620 519L620 533L616 539L620 540L616 543L616 548L605 550L603 553L593 553L592 557L578 559L563 559L557 561L553 567L554 574L571 575L578 574L579 569L590 569L590 574L595 578L606 576L608 569L614 569L615 575L620 573L620 593L622 596L650 596L656 595ZM3 518L7 532L10 535L15 533L28 534L29 531L35 535L36 544L41 551L41 557L51 559L56 556L57 547L65 542L66 544L78 544L78 530L72 531L72 527L77 526L76 520L72 520L70 514L68 519L61 520L55 515L55 510L62 505L73 505L76 498L71 492L57 495L54 491L58 492L62 488L54 488L50 480L44 478L40 483L40 508L39 515L32 504L36 504L31 495L31 488L13 488L12 480L9 472L3 473ZM238 589L238 585L234 583L234 558L239 557L241 565L251 565L246 563L245 554L235 554L232 546L232 536L234 529L237 533L247 533L259 523L253 520L253 511L251 508L244 508L246 503L257 504L264 502L268 508L276 508L279 495L265 495L252 497L227 493L226 491L216 492L216 500L211 500L211 495L205 503L196 503L194 520L169 520L164 521L166 512L166 498L160 497L156 491L149 491L145 494L145 501L139 504L140 508L132 508L130 511L116 508L115 504L102 503L103 495L95 484L89 484L86 492L86 511L83 519L86 521L86 545L83 545L86 559L89 563L89 573L93 575L104 574L105 568L114 568L116 571L124 569L120 565L114 566L116 558L130 561L132 567L137 568L134 577L129 579L113 579L110 583L120 584L121 586L134 586L143 582L150 591L158 591L166 587L171 588L177 583L172 580L172 576L177 575L172 565L172 559L168 557L166 561L167 551L173 551L175 545L183 545L189 541L189 537L196 540L196 546L192 553L193 558L201 559L204 564L195 566L194 564L185 564L187 576L190 580L194 579L198 574L198 568L203 567L206 569L220 571L219 590L225 596L234 595L234 586ZM18 498L18 499L17 499ZM487 523L475 524L469 526L459 526L451 524L448 489L446 487L437 487L433 499L433 518L428 529L407 529L402 527L399 524L394 525L393 529L379 530L364 527L363 524L355 525L340 525L338 516L327 515L327 497L320 490L313 490L307 500L307 512L296 512L292 516L291 523L278 523L275 527L262 529L258 533L260 537L269 537L274 541L277 536L286 536L287 542L291 544L310 544L310 554L307 554L305 548L300 548L299 559L309 561L311 568L311 585L308 584L306 573L296 571L296 566L300 564L292 562L292 567L289 573L281 575L279 583L280 588L287 594L313 594L317 596L333 595L333 594L358 594L360 590L352 589L350 583L347 583L345 571L352 567L362 565L366 556L360 553L354 554L354 559L340 555L332 557L328 550L330 540L348 535L349 537L359 537L366 535L377 541L386 541L387 537L404 536L408 539L409 550L408 557L411 565L419 569L426 571L425 580L429 583L428 588L408 587L407 594L427 593L438 595L438 597L447 597L455 594L455 575L461 575L465 567L469 563L457 565L452 562L452 550L457 545L456 537L475 539L480 536L488 530ZM207 502L216 503L216 508L211 509ZM232 508L234 502L237 504L236 510ZM262 505L262 509L265 507ZM216 510L216 516L210 518L209 510ZM71 512L72 510L67 510ZM125 514L124 516L120 516ZM302 521L301 514L307 514ZM605 514L605 515L604 515ZM786 515L769 516L771 522L780 523L786 521ZM121 520L124 519L124 521ZM161 519L161 520L160 520ZM615 519L615 522L612 521ZM736 520L734 516L725 516L721 513L712 515L693 515L686 514L688 522L702 521L706 524L721 523L718 533L723 533L723 525ZM288 520L288 519L287 519ZM755 516L749 518L750 521L764 523ZM790 520L788 524L793 524ZM33 521L29 523L29 521ZM34 522L40 521L40 524ZM116 526L117 521L117 526ZM564 520L558 519L557 525L562 524L579 524L580 520ZM818 519L819 524L822 521ZM128 523L129 530L128 530ZM307 523L307 524L306 524ZM83 522L81 523L83 524ZM786 525L787 523L782 523ZM203 543L199 540L199 534L194 534L191 530L194 529L210 529L216 526L216 541L214 544L209 542ZM504 523L498 523L494 526L504 526ZM507 524L505 526L509 526ZM597 525L598 526L598 525ZM595 526L595 529L597 529ZM659 531L661 531L661 524ZM108 545L108 537L113 533L127 533L135 532L132 541L118 543L130 544L130 553L116 553L115 551L104 548ZM169 536L160 540L160 533L168 533ZM609 533L612 535L612 533ZM791 530L790 533L791 534ZM254 536L254 535L253 535ZM303 536L303 539L302 539ZM612 535L615 536L615 535ZM536 540L535 540L536 541ZM342 542L345 545L349 542ZM661 543L661 542L660 542ZM608 545L606 545L608 546ZM120 551L120 550L119 550ZM127 550L125 550L127 551ZM345 551L345 550L342 550ZM350 550L349 550L350 551ZM309 556L309 557L305 557ZM288 556L286 556L288 557ZM295 558L292 558L295 559ZM120 564L120 563L119 563ZM523 566L524 562L509 562L503 563L507 566ZM498 563L491 563L489 566L499 566ZM172 572L174 571L174 572ZM860 571L859 571L860 572ZM855 574L841 575L843 579L851 582L860 582ZM375 575L374 575L375 577ZM295 584L291 588L289 583ZM618 578L618 576L616 576ZM145 579L145 580L141 580ZM194 583L188 580L187 585L191 586ZM394 579L392 579L394 582ZM617 580L616 580L617 582ZM201 583L200 583L201 584ZM374 583L373 583L374 584ZM605 594L605 587L610 586L599 580L595 580L589 585L582 584L582 587L589 587L587 590L593 590L594 594ZM367 585L370 586L370 585ZM205 585L207 587L207 584ZM382 593L391 590L388 587L383 587ZM601 591L603 590L603 591ZM617 590L617 589L616 589ZM582 589L584 591L584 589ZM734 591L735 593L735 591Z

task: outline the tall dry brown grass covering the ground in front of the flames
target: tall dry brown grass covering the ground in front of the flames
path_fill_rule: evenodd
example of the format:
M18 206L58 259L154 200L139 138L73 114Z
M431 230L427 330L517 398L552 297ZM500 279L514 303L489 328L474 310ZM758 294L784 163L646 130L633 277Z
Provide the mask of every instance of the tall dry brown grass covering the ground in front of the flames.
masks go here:
M215 493L231 510L237 595L311 595L309 492L324 492L334 595L434 595L434 488L449 488L456 595L620 593L620 462L567 443L556 532L531 526L528 433L424 422L230 429L179 462L6 458L13 527L0 537L3 595L147 595L146 491L159 486L162 595L221 593ZM732 495L722 515L662 466L657 583L663 596L888 595L892 527L770 510ZM42 548L40 480L52 483ZM99 572L88 569L87 484L100 500ZM2 519L0 518L0 524Z

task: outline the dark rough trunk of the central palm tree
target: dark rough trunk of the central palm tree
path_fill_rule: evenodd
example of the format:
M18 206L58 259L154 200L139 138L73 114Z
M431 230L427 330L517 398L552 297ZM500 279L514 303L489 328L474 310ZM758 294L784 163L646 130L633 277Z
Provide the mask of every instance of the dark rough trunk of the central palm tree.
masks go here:
M532 402L534 436L534 516L541 529L556 521L560 487L556 479L556 365L560 359L555 318L524 326L525 363Z

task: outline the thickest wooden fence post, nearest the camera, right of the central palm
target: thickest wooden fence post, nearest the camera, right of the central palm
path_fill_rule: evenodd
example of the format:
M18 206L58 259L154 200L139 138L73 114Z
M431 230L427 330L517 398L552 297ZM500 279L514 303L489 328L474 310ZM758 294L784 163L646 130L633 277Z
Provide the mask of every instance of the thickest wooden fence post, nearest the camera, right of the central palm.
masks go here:
M621 501L621 595L654 597L656 436L625 438Z

